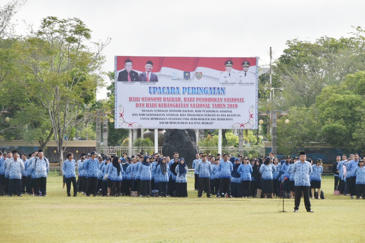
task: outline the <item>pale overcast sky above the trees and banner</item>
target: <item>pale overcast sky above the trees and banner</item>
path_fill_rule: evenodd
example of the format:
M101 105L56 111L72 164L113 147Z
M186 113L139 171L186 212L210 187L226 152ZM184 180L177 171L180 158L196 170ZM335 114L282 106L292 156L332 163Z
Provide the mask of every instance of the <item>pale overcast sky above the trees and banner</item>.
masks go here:
M8 0L0 0L3 6ZM15 15L17 34L24 20L37 29L42 18L79 18L92 30L92 41L112 41L104 55L105 71L115 55L253 57L269 65L285 42L298 38L349 36L351 26L365 28L360 0L28 0ZM97 98L105 98L106 89Z

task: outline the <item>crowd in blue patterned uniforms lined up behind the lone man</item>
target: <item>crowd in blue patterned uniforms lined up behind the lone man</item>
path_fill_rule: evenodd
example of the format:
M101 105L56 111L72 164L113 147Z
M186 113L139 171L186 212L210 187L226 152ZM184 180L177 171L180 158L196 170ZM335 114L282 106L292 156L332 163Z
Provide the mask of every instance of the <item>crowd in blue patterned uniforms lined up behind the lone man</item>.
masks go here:
M36 150L28 156L29 159L26 154L22 154L20 158L17 151L9 151L1 156L2 195L22 196L22 193L28 193L33 196L46 196L49 162L43 156L42 150ZM235 158L230 154L223 154L222 157L220 154L216 157L208 153L196 154L192 167L195 170L194 187L197 197L202 197L205 193L208 198L212 195L218 198L274 198L274 196L294 198L297 184L295 164L300 161L300 156L292 158L288 155L279 161L272 153L266 158L260 156L251 159L242 155ZM336 160L333 164L335 189L351 198L354 196L357 199L364 198L365 170L362 159L358 154L350 154L349 159L346 155L342 155L341 160L338 155ZM305 161L311 165L308 171L311 190L308 194L314 199L317 189L320 199L322 159L312 161L306 158ZM185 159L180 158L177 152L170 159L169 156L158 153L150 156L140 152L131 157L123 153L119 157L110 154L104 156L92 151L89 154L82 154L77 162L73 159L73 154L68 153L62 171L67 196L71 196L71 185L73 196L77 196L77 192L87 197L188 196L188 167Z

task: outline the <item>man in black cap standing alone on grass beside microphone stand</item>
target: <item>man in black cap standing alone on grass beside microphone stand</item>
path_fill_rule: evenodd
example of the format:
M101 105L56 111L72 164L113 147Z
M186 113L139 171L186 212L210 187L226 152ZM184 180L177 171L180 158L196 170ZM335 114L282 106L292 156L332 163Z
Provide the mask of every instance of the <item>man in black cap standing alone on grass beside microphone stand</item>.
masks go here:
M300 205L300 197L301 193L303 192L304 197L304 205L306 206L307 212L313 212L311 209L311 201L309 199L309 188L310 188L310 181L309 177L312 174L312 166L311 163L306 161L306 153L300 152L299 159L293 165L293 172L294 172L294 180L295 180L295 207L294 212L298 212L299 205Z

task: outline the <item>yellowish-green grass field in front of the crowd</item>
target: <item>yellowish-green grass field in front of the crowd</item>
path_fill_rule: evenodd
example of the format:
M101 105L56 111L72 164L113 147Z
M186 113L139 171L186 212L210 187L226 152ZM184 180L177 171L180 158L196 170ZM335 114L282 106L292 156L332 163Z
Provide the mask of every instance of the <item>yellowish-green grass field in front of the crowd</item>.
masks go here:
M364 242L365 200L333 196L333 176L322 178L326 200L66 197L62 177L49 175L47 197L0 197L1 242ZM71 192L72 194L72 192Z

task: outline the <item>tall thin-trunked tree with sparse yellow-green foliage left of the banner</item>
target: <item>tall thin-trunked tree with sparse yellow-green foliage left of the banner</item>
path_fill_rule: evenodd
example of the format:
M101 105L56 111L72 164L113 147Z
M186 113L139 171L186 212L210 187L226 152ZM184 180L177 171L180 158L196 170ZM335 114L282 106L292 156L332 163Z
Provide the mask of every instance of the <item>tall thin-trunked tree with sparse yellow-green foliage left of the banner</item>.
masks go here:
M27 89L30 104L47 112L42 119L51 124L61 167L65 136L86 119L84 105L95 102L96 89L103 85L102 51L110 40L94 43L94 52L85 45L90 38L91 30L80 19L47 17L22 42L20 65L27 76L17 81Z

